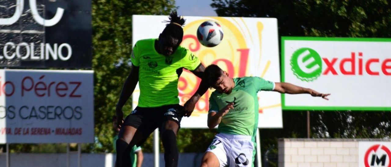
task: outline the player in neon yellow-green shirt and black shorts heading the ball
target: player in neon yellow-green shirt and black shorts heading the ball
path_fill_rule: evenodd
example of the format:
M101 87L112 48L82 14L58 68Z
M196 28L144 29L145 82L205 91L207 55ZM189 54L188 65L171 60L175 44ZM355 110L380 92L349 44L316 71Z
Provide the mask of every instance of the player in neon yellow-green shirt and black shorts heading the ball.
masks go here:
M132 67L117 103L117 123L121 126L117 147L117 167L128 167L131 148L140 146L156 128L159 128L164 147L166 167L178 166L176 134L181 118L190 116L195 103L208 89L204 82L182 107L178 98L178 79L183 68L198 77L205 67L192 52L179 46L183 38L185 20L172 12L169 23L158 39L137 41L131 53ZM124 121L122 107L140 86L138 106Z

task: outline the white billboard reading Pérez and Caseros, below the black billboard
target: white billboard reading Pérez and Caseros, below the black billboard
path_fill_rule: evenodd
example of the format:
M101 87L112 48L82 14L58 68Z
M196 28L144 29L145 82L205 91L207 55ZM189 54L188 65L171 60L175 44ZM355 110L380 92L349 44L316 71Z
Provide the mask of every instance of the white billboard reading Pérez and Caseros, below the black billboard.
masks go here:
M0 143L93 139L93 71L0 70Z

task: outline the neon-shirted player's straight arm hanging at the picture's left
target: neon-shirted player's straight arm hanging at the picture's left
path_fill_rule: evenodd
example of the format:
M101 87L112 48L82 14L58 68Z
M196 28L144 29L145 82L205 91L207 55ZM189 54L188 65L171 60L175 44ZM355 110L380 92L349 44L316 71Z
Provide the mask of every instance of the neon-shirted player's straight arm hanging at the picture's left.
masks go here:
M124 122L123 121L124 113L122 112L122 107L125 105L127 99L129 99L130 95L133 93L137 85L138 71L139 71L139 67L132 65L131 71L126 78L124 86L122 87L121 95L118 100L117 106L115 108L117 114L118 128L120 128L122 123Z

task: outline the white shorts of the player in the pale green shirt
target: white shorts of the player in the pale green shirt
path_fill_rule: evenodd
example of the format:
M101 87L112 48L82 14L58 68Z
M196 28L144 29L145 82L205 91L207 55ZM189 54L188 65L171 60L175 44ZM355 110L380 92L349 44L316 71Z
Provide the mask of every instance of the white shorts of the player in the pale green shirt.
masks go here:
M251 136L219 133L206 152L217 156L220 167L251 167L254 149Z

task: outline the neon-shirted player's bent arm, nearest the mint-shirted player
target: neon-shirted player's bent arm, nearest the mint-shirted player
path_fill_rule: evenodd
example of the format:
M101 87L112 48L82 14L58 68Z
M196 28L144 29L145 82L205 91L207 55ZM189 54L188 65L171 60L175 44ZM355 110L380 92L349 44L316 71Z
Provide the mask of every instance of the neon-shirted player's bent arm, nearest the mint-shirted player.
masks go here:
M204 75L204 71L205 71L205 66L203 64L200 64L200 66L198 66L197 69L192 71L192 73L195 76L198 76L198 78L202 79ZM184 113L183 116L190 117L190 115L192 115L195 104L207 90L208 90L207 84L205 83L204 80L201 80L201 83L199 84L197 91L193 94L192 97L190 97L190 99L188 99L188 101L186 101L185 105L183 105L183 113Z

